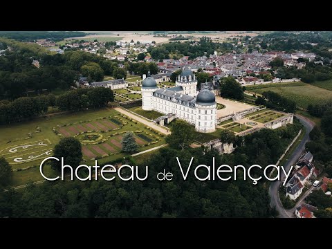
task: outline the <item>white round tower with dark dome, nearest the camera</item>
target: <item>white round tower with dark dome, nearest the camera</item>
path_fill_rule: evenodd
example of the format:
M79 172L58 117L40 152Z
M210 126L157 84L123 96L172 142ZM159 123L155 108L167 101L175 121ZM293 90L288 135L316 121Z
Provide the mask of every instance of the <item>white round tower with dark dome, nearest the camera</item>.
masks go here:
M213 132L216 130L216 97L203 86L196 98L196 131Z

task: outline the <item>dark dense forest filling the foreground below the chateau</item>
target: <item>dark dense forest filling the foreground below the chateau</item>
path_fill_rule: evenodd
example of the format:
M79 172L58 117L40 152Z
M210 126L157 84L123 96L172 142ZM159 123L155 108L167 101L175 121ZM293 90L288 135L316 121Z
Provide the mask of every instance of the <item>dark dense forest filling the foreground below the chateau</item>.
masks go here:
M181 121L176 121L181 122ZM185 127L187 125L187 127ZM181 164L244 165L255 162L266 166L275 163L301 124L288 124L277 130L262 129L243 138L232 138L237 144L233 154L219 155L199 147L180 147L176 143L192 142L187 132L190 124L172 126L176 141L160 149L140 167L149 165L147 181L66 181L29 185L23 191L0 194L2 217L268 217L276 215L269 208L268 183L253 185L250 181L197 181L190 170L183 181L176 156ZM181 129L176 131L176 129ZM184 131L184 132L183 132ZM170 139L172 140L172 135ZM183 139L178 139L182 136ZM182 138L181 137L181 138ZM122 163L129 163L124 160ZM251 164L250 164L251 163ZM185 166L184 166L185 167ZM186 167L185 167L186 168ZM172 181L158 181L157 172L172 172ZM124 174L126 174L124 172ZM199 172L198 174L206 174ZM238 172L241 176L241 172ZM42 204L41 204L42 203Z

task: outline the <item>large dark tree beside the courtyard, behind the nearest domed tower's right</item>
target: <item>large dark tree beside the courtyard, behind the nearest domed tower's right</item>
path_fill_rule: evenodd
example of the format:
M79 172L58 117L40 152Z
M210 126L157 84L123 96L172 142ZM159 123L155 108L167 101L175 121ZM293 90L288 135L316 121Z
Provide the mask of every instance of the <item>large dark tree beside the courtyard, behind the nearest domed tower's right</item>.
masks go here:
M224 98L244 99L243 89L234 77L228 76L221 78L220 84L221 96Z

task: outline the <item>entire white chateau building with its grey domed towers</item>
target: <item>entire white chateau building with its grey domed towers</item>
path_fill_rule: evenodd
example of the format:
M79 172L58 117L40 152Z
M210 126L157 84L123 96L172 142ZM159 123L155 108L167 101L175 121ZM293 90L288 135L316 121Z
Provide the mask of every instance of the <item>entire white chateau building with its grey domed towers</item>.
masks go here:
M203 87L197 94L197 80L190 69L182 71L176 86L158 89L157 82L148 73L142 81L142 109L174 114L176 118L195 126L196 131L216 130L216 98L214 93Z

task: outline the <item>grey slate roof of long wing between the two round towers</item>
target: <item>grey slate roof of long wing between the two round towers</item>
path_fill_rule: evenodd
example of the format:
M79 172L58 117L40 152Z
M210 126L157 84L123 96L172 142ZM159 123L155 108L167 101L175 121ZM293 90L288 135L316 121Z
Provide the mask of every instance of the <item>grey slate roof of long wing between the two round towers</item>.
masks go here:
M190 95L177 93L176 91L172 91L169 89L158 89L154 92L154 96L163 100L176 102L177 104L182 104L185 107L195 108L196 98Z

